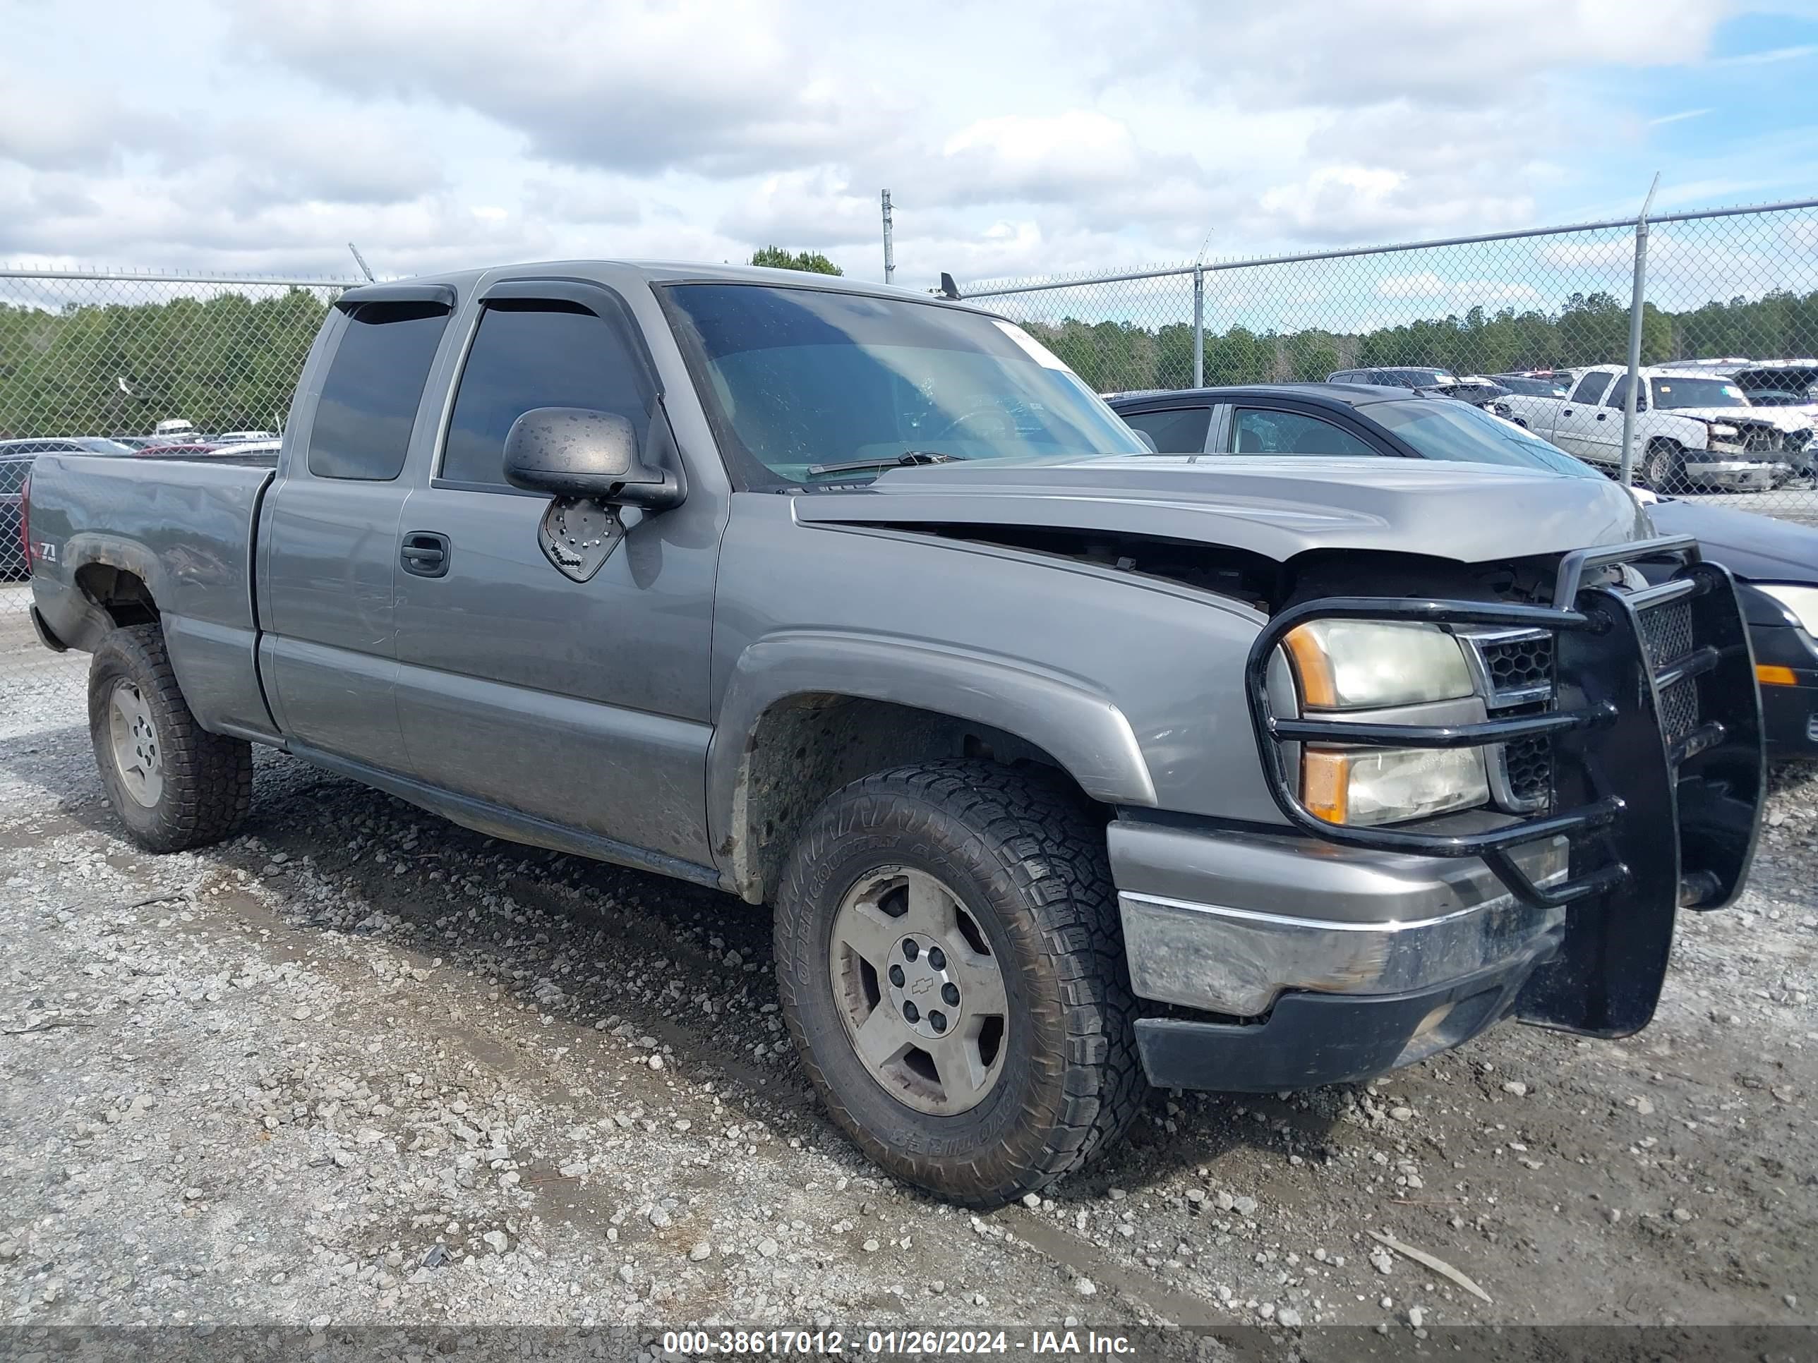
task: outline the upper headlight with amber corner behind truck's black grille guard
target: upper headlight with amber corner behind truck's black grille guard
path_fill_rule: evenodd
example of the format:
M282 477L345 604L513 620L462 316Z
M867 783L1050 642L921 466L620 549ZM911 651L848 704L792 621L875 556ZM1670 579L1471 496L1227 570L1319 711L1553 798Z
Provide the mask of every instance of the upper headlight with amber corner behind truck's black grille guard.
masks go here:
M1438 625L1313 620L1284 640L1300 703L1318 711L1420 705L1469 696L1463 649Z

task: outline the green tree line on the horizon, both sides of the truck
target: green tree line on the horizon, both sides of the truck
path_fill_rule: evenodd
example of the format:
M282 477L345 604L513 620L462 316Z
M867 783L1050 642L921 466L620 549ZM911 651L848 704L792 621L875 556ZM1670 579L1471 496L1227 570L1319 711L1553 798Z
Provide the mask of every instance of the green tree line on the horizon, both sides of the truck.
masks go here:
M833 271L816 253L767 247L754 264ZM1040 294L1036 294L1040 298ZM145 434L169 416L202 431L282 422L329 307L327 293L222 293L158 303L0 305L0 438ZM984 300L985 305L991 300ZM1193 382L1193 327L1129 322L1027 322L1094 389L1167 389ZM1571 294L1556 311L1491 313L1374 331L1229 327L1205 334L1207 383L1316 382L1334 369L1431 363L1500 373L1622 360L1627 303ZM1818 291L1711 302L1685 313L1645 309L1642 360L1711 354L1787 358L1818 351Z

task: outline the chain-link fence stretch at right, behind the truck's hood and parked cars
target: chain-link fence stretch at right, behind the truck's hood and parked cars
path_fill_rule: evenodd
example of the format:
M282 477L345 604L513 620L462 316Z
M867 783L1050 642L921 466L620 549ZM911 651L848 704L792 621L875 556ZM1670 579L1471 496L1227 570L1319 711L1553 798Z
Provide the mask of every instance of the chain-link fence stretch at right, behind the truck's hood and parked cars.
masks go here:
M1442 387L1613 474L1634 333L1634 480L1818 525L1818 200L964 293L1100 393Z

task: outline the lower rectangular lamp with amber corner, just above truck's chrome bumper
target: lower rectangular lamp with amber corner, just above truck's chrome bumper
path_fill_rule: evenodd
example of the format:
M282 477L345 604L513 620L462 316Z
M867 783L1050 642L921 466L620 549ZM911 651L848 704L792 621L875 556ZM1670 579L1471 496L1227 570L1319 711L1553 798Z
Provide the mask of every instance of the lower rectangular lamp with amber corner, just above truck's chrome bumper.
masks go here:
M1300 763L1300 798L1327 823L1398 823L1489 800L1476 747L1309 745Z

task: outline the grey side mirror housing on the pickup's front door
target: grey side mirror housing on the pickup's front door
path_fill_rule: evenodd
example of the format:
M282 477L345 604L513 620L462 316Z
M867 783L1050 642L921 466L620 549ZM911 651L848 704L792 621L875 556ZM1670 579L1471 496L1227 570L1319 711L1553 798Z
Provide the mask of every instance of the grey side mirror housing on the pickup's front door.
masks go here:
M505 434L505 482L527 492L644 511L682 502L682 480L644 463L631 422L587 407L534 407L513 422Z

